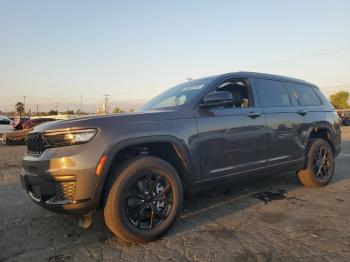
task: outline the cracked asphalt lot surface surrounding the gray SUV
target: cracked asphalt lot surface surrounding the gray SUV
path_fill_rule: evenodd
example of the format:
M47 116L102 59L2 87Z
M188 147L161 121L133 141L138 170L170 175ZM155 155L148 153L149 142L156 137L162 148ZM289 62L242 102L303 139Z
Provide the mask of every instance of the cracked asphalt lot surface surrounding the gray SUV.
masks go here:
M24 152L0 146L0 261L350 261L350 128L329 186L280 174L186 199L171 231L141 246L114 237L101 214L84 230L32 203L18 181Z

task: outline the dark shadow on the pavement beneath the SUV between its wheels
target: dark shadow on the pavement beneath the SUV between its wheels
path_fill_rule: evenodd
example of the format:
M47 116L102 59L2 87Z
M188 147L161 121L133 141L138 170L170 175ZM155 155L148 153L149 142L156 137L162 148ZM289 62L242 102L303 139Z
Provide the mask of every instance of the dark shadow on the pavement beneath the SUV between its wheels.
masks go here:
M225 186L215 192L202 193L184 200L184 210L168 236L192 230L201 224L238 213L257 204L278 200L297 200L286 193L302 187L295 173L262 175Z

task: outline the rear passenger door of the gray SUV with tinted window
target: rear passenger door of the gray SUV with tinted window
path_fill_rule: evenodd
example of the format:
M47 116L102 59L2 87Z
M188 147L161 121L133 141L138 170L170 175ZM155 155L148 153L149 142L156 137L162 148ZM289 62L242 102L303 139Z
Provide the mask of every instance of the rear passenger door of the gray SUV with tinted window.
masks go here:
M301 164L304 145L300 137L307 120L287 82L257 78L254 86L266 120L267 166Z

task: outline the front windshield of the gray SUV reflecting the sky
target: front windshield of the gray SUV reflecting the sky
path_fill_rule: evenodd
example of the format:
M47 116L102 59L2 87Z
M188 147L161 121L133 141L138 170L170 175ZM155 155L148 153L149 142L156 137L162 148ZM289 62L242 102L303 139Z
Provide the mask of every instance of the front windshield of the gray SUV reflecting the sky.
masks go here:
M183 106L197 97L203 87L213 79L214 77L207 77L174 86L151 99L142 107L142 109L160 109Z

